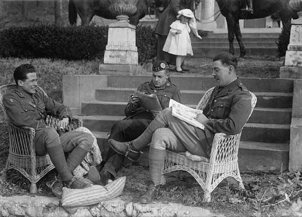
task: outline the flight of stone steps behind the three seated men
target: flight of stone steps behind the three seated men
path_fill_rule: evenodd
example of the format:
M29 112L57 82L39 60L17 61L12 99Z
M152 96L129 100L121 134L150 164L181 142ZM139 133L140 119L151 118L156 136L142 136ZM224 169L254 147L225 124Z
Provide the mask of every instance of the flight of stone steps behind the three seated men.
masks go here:
M84 126L94 132L100 148L107 145L108 133L133 93L149 76L108 76L98 86L95 100L82 102ZM215 85L209 77L171 77L182 93L182 103L195 108L203 94ZM244 127L239 149L241 171L280 172L288 168L288 150L292 107L292 80L242 79L257 96L257 104ZM147 151L138 160L147 162Z

